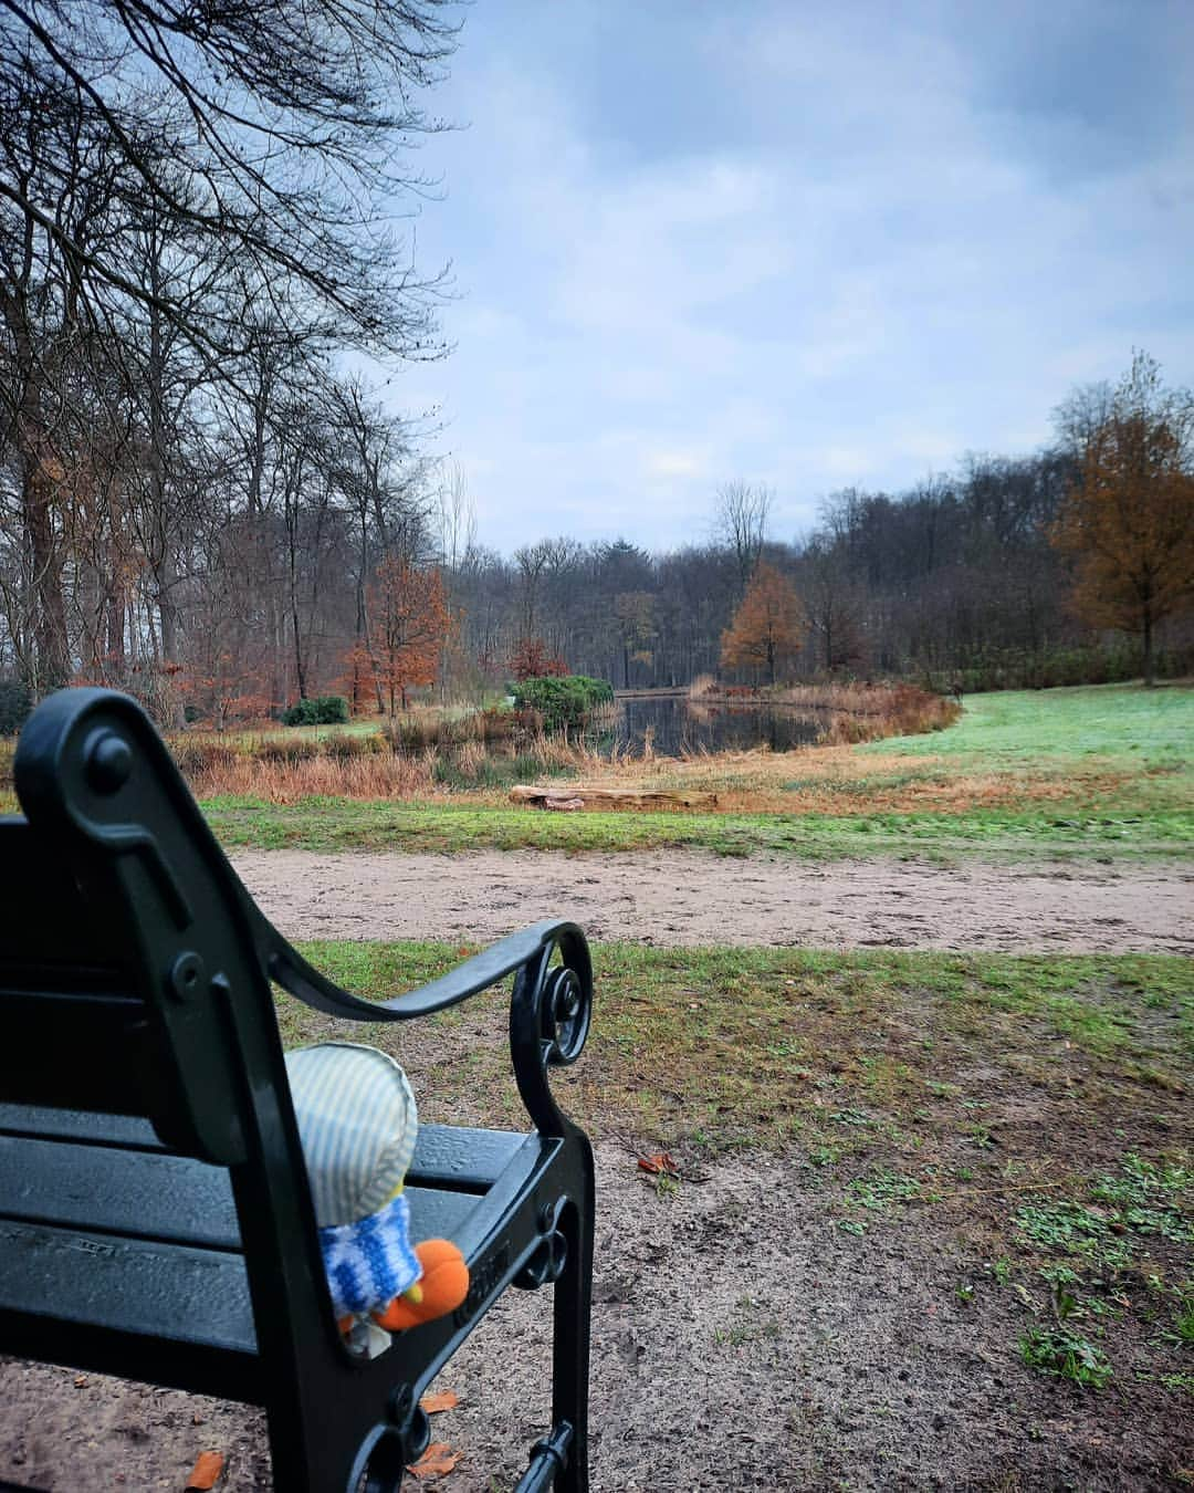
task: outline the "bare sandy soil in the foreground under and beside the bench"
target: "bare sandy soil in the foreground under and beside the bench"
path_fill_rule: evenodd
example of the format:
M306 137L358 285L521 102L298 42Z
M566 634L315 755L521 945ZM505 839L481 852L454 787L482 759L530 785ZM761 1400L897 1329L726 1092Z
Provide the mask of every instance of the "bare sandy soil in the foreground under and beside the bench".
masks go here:
M1131 1383L1033 1375L1024 1312L964 1236L909 1217L837 1229L809 1169L745 1156L658 1196L598 1148L593 1341L597 1493L696 1489L1176 1489L1194 1417ZM973 1284L975 1299L958 1288ZM443 1377L434 1486L513 1486L548 1420L548 1296L513 1293ZM982 1332L976 1332L981 1318ZM185 1487L199 1451L269 1489L255 1412L58 1369L0 1366L0 1477L66 1493Z

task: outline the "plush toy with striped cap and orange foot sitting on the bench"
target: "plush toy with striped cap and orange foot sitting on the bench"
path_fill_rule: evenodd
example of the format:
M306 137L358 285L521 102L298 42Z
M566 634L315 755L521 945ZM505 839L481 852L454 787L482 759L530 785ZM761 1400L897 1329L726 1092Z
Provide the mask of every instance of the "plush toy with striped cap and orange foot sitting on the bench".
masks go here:
M415 1096L393 1057L352 1042L287 1053L287 1075L336 1317L349 1338L379 1353L385 1332L443 1317L469 1291L454 1244L410 1242L403 1187L418 1132Z

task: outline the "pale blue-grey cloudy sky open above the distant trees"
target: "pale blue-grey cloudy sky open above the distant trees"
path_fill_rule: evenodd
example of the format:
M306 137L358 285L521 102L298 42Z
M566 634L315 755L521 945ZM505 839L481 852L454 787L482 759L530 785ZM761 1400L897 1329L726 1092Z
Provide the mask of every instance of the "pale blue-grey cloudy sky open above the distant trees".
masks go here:
M479 539L701 539L1194 382L1193 0L475 0L425 142Z

